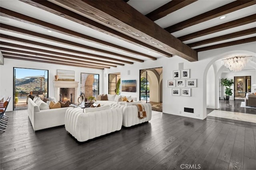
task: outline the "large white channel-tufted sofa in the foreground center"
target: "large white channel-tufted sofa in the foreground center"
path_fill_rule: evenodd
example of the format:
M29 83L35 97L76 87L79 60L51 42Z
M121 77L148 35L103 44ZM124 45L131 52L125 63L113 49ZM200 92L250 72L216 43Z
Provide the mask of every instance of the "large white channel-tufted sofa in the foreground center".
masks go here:
M110 106L81 109L68 108L65 115L65 128L79 142L84 142L122 127L122 110ZM95 110L92 112L92 110Z

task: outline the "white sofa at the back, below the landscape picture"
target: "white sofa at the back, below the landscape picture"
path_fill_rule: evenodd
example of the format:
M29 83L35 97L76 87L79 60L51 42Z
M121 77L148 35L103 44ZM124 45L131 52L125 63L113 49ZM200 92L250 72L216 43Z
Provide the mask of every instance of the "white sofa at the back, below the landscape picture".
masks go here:
M120 104L122 102L118 102L118 98L120 97L120 95L117 94L107 94L108 96L108 100L97 100L96 102L94 102L95 104L100 104L101 106L103 105L112 105L112 104ZM124 97L124 96L122 96ZM132 96L126 96L126 98L130 101L137 101L136 97L132 97Z

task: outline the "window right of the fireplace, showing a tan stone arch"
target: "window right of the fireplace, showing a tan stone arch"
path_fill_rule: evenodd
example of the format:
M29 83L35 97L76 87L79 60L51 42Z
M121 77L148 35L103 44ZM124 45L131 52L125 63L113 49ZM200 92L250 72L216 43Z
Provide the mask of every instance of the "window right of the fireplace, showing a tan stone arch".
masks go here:
M86 98L99 94L99 74L81 72L81 93Z

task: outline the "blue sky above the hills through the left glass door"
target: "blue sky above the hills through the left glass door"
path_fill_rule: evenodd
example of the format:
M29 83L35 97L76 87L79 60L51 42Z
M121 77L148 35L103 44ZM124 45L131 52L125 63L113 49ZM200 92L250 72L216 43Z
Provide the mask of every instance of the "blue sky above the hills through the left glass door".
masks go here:
M29 68L15 68L16 70L16 78L24 78L28 76L41 76L44 75L44 71L46 70L36 70L36 69L29 69ZM45 72L45 76L47 78L47 71Z

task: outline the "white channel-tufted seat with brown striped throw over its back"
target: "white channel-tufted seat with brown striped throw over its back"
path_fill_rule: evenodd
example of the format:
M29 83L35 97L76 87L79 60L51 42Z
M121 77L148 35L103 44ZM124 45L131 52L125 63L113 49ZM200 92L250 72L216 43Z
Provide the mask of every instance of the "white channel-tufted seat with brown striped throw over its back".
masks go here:
M137 102L134 102L137 103ZM131 103L126 103L126 105L120 105L120 104L112 104L112 107L118 107L122 109L123 114L123 121L122 125L124 127L131 127L133 125L138 125L140 123L144 123L151 120L152 117L152 107L148 103L140 103L142 106L144 106L146 110L147 117L140 119L138 118L138 109L137 106L132 105ZM130 106L129 106L130 105Z

